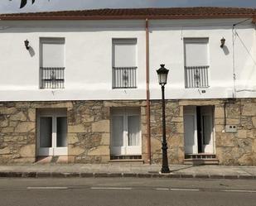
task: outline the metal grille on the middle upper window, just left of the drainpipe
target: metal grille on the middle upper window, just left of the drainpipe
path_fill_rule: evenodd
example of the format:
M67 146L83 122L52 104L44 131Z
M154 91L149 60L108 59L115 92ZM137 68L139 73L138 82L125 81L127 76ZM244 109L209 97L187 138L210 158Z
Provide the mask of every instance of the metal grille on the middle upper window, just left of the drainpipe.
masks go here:
M113 88L137 88L137 67L113 67Z

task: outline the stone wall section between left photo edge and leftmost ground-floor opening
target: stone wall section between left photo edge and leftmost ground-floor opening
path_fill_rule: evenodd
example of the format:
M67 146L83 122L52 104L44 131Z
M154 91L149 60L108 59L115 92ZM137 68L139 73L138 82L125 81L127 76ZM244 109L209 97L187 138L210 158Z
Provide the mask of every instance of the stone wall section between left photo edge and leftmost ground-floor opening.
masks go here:
M30 103L0 103L0 163L35 161L36 110Z

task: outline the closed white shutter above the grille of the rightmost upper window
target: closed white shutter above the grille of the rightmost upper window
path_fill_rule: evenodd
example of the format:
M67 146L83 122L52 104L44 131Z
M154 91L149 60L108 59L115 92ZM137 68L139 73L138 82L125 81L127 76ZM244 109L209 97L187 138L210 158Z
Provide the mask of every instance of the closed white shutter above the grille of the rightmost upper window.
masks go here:
M208 38L185 39L185 65L205 66L208 63Z

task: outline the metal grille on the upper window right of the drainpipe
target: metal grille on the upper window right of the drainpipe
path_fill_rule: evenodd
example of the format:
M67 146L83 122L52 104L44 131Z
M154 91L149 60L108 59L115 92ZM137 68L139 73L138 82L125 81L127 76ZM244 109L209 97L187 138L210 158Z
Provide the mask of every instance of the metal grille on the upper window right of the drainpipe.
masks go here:
M185 87L209 87L208 68L209 66L185 66Z

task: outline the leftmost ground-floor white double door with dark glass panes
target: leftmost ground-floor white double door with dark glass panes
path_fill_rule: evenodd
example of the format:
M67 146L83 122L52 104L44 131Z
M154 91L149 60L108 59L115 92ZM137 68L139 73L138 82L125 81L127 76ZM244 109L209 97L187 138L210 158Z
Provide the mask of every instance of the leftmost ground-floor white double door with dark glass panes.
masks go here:
M45 110L37 117L37 155L67 155L67 118L65 112Z

